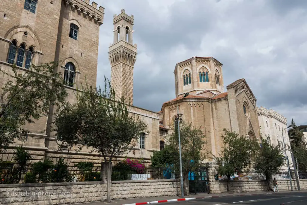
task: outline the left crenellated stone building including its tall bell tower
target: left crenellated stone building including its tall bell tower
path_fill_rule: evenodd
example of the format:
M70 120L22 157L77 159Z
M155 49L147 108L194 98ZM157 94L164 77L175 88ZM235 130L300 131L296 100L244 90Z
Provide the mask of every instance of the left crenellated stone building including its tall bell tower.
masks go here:
M11 72L16 63L21 72L28 72L30 65L40 65L50 61L61 61L57 72L62 73L70 103L75 101L78 85L87 79L87 84L96 86L99 28L103 24L104 8L97 7L89 0L37 1L16 0L12 4L4 0L0 8L0 67ZM132 44L134 17L125 14L114 16L114 42L110 46L111 80L117 98L124 95L126 102L133 103L133 66L136 61L136 45ZM94 59L94 60L93 60ZM129 79L126 73L130 73ZM0 79L6 83L8 76ZM56 112L55 107L50 108ZM150 160L153 150L160 150L159 114L142 108L129 106L131 115L140 117L148 129L141 133L140 141L126 156ZM10 145L3 160L10 160L16 144L24 144L31 150L33 160L65 157L73 165L76 162L90 160L100 164L98 153L89 154L88 148L81 152L58 152L55 133L50 131L53 115L41 117L34 124L26 124L31 133L22 143L16 141ZM167 130L166 128L164 128ZM165 136L161 136L161 143ZM63 155L64 154L64 155ZM118 156L122 160L124 156Z

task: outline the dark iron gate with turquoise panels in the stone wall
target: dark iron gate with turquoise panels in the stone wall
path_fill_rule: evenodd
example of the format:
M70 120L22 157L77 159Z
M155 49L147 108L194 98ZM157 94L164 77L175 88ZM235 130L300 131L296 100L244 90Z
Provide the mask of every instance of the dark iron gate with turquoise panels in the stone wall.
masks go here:
M188 175L190 193L209 193L209 177L206 167L190 171Z

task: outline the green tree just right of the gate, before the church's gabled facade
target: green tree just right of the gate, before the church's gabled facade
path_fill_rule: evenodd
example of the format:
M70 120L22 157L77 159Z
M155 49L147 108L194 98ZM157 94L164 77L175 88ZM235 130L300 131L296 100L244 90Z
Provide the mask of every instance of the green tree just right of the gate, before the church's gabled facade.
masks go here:
M236 132L223 129L223 148L220 156L215 157L219 175L227 176L227 191L230 191L230 177L251 167L258 142L239 136Z

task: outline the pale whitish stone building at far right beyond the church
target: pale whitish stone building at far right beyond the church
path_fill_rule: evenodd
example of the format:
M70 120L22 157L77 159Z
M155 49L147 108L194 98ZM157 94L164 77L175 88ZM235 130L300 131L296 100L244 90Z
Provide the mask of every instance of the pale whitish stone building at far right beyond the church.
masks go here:
M293 164L290 152L290 140L287 132L287 118L272 109L269 110L262 106L257 107L257 114L262 137L267 139L270 144L280 145L281 148L286 149L290 168L292 168ZM285 140L285 143L283 143L283 140ZM281 169L288 169L286 160Z

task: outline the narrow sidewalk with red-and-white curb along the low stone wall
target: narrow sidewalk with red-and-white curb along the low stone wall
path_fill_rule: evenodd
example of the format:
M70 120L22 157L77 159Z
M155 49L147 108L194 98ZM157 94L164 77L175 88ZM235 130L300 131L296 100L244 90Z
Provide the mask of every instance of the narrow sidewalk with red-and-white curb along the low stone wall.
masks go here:
M185 196L185 199L188 200L195 200L195 199L203 199L203 198L217 198L217 197L225 197L225 196L243 196L243 195L262 195L262 194L284 194L284 193L297 193L297 192L306 192L306 190L302 191L279 191L272 192L272 191L257 191L257 192L240 192L240 193L221 193L221 194L190 194ZM120 199L120 200L112 200L111 203L107 203L107 201L97 201L97 202L90 202L90 203L82 203L82 205L103 205L103 204L114 204L114 205L125 205L125 204L147 204L147 202L154 202L158 203L167 202L167 200L175 199L172 201L177 201L176 199L181 199L180 201L185 201L179 196L161 196L161 197L148 197L148 198L135 198L135 199ZM159 203L161 203L159 202ZM81 205L81 204L76 204Z

